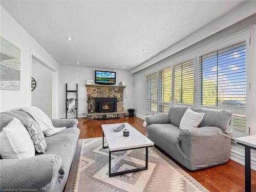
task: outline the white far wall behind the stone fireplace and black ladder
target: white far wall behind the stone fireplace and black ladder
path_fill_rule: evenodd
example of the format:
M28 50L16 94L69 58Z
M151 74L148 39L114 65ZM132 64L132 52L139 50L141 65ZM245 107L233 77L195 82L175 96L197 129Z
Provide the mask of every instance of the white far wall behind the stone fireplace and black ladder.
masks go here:
M76 89L76 83L78 83L78 116L83 116L83 113L87 112L87 92L85 84L87 83L87 79L94 80L94 71L96 69L93 68L81 68L81 67L66 67L61 66L59 68L59 92L58 92L58 100L59 100L59 114L60 118L65 116L65 99L66 99L66 83L68 83L68 89L74 90ZM100 69L102 70L102 69ZM110 70L106 70L110 71ZM124 109L134 108L134 80L133 75L129 74L128 71L118 71L112 70L116 72L116 84L119 81L124 81L126 88L124 89L123 94L123 102ZM68 93L70 98L75 98L74 94ZM68 97L69 97L68 96Z

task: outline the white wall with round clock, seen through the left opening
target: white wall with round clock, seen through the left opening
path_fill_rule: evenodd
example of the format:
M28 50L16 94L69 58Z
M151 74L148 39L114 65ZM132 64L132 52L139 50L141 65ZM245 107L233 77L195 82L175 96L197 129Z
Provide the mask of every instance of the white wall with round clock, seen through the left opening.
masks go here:
M36 88L31 92L31 105L52 116L52 71L32 59L32 77Z

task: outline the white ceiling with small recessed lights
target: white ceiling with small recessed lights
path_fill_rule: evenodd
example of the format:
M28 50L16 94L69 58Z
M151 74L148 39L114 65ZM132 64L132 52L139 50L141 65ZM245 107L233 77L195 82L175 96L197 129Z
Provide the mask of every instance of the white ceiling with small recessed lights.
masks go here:
M133 69L240 3L1 1L59 65L114 70Z

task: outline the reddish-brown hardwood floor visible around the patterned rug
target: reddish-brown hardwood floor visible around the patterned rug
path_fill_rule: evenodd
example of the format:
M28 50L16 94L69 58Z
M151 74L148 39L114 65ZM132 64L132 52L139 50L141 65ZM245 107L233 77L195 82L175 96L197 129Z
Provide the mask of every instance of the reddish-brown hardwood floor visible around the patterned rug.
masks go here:
M102 137L101 124L122 123L127 122L134 126L139 132L147 135L146 128L142 126L143 120L138 117L125 117L112 120L91 120L86 118L78 118L78 128L80 129L79 139ZM157 146L156 146L157 147ZM190 176L195 178L209 191L244 191L244 166L229 160L226 164L213 166L191 172L163 150L157 147L164 155L172 159ZM252 191L256 191L256 172L251 171Z

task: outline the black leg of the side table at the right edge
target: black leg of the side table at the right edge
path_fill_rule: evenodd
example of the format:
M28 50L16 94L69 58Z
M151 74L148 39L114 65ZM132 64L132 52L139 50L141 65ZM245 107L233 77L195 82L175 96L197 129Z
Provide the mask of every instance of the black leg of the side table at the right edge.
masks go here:
M245 192L251 191L251 149L245 146Z

